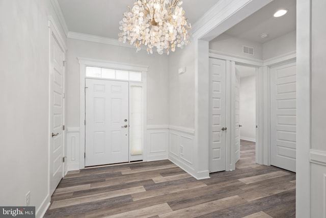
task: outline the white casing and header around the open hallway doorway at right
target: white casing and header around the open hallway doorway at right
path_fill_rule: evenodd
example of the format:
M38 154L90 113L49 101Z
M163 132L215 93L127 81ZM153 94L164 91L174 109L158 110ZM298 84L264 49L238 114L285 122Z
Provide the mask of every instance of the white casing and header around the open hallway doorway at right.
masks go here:
M227 146L226 146L226 171L235 169L235 161L233 160L232 144L234 144L235 124L232 116L235 105L233 104L233 78L235 77L234 70L231 67L235 63L242 65L250 65L256 67L256 163L263 165L270 165L270 67L278 65L283 62L295 60L296 53L291 52L279 57L268 59L265 61L245 59L235 57L228 54L219 53L216 51L209 51L210 58L218 58L227 61L227 128L231 131L227 132ZM230 72L230 74L228 74ZM228 109L229 108L229 109Z

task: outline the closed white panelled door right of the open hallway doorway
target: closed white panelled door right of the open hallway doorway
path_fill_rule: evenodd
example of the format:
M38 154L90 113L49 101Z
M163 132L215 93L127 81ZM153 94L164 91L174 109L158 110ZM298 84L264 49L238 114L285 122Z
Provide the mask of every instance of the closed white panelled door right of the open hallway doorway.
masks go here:
M295 172L296 64L270 69L270 163Z

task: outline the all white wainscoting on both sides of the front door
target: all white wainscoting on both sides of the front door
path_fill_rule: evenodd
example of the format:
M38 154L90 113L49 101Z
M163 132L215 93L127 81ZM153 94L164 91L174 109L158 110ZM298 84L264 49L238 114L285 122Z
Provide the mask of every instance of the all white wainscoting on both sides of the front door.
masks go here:
M168 125L147 127L146 160L169 159L197 178L194 169L195 131ZM79 128L67 129L67 165L68 171L79 169Z

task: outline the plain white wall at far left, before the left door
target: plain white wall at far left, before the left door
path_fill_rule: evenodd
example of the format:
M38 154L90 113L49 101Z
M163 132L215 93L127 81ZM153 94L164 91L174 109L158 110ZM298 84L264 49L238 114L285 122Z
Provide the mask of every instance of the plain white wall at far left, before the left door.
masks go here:
M36 217L49 203L49 15L59 25L50 1L0 1L0 205L31 191Z

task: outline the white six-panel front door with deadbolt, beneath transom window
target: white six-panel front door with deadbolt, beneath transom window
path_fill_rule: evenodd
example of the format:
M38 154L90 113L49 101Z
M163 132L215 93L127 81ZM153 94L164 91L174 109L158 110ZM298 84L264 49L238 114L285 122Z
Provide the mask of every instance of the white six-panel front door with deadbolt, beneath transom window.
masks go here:
M85 166L129 161L128 82L86 79Z

